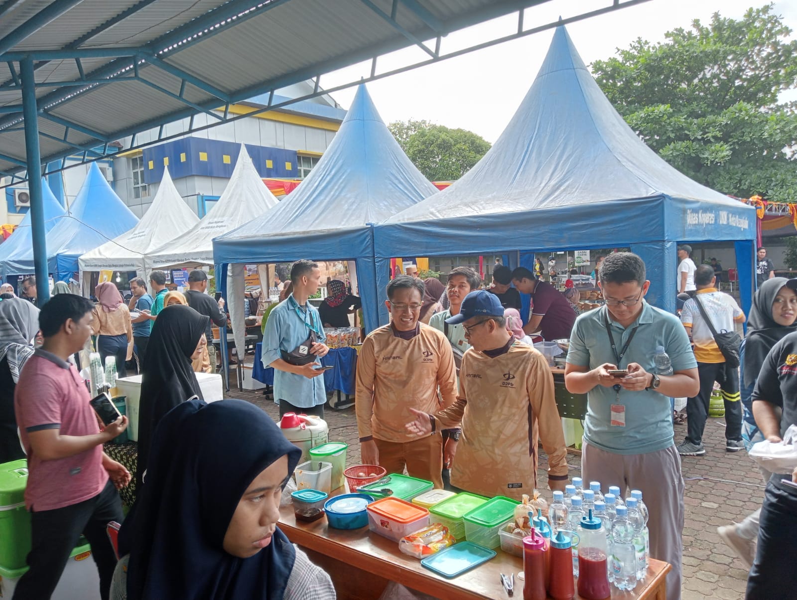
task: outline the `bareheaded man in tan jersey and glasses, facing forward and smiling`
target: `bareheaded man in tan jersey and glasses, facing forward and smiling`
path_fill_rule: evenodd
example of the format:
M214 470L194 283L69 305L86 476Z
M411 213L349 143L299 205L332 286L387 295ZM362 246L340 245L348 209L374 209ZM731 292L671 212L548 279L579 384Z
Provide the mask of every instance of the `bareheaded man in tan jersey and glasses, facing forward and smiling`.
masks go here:
M433 413L456 398L449 341L418 322L423 292L422 280L409 275L387 286L391 323L368 334L357 359L357 428L363 464L379 464L388 473L406 466L410 476L442 488L439 432L418 436L404 428L412 409Z

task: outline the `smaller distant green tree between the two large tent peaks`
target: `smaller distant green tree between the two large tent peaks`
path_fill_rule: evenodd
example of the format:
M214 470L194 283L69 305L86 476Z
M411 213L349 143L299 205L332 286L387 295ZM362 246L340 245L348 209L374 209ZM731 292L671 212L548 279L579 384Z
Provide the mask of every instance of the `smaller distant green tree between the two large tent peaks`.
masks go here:
M458 180L490 149L489 142L476 133L426 120L395 121L387 127L430 181Z

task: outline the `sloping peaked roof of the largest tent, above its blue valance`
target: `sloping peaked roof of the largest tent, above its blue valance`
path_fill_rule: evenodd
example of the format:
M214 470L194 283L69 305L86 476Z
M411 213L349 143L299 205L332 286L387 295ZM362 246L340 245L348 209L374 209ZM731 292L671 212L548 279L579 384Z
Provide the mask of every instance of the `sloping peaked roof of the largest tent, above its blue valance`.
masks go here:
M639 139L558 26L540 72L493 148L449 188L387 223L666 195L737 207Z

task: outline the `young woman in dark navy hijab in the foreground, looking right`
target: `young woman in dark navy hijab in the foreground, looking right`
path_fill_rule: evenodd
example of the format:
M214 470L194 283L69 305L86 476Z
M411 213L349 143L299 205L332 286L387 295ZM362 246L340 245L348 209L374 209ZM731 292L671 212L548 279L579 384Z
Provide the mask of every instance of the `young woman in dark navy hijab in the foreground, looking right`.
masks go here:
M173 409L155 432L147 485L120 531L111 598L335 598L328 575L277 528L300 456L249 402Z

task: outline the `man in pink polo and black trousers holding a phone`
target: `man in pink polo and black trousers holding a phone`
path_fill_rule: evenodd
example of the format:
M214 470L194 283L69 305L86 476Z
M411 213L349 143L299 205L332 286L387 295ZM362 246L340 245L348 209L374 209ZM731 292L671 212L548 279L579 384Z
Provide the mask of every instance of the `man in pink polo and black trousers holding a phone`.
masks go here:
M28 572L16 600L49 598L80 534L92 547L100 571L100 597L107 600L116 557L105 526L121 523L116 488L130 482L124 466L102 444L128 427L120 417L100 432L91 397L69 357L92 334L92 303L74 294L53 296L42 307L44 344L26 362L14 392L22 445L28 455L25 504L31 512Z

